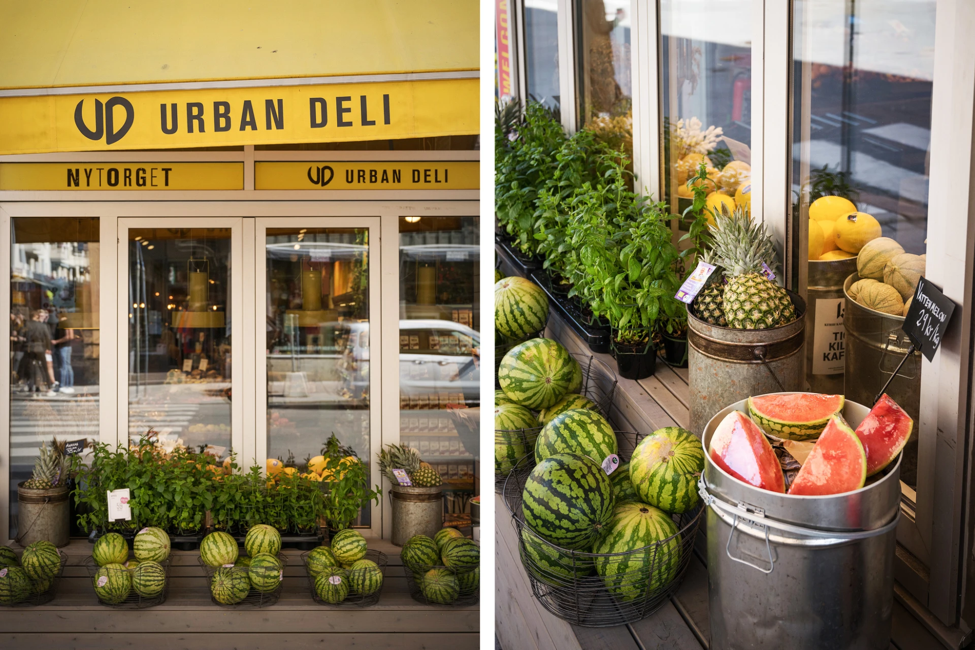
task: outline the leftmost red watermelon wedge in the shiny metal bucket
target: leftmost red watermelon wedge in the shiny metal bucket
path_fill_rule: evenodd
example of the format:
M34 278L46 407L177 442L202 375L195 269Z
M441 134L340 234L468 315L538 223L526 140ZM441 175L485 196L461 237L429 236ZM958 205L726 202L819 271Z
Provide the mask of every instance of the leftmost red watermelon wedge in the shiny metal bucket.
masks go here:
M738 480L771 492L785 492L782 466L759 425L741 411L731 411L711 437L708 454L715 465Z

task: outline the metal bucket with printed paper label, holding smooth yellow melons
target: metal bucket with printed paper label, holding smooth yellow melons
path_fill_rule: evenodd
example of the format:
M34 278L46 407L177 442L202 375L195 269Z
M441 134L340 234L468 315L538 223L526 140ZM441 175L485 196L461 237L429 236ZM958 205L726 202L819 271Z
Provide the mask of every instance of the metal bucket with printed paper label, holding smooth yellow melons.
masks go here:
M843 282L851 273L856 273L856 257L809 262L805 380L815 393L843 392Z

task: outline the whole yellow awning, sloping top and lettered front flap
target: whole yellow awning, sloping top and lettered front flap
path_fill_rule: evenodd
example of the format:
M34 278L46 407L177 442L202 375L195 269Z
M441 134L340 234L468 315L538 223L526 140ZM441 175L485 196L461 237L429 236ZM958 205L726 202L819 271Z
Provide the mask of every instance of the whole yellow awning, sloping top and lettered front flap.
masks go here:
M0 3L0 154L478 133L478 3Z

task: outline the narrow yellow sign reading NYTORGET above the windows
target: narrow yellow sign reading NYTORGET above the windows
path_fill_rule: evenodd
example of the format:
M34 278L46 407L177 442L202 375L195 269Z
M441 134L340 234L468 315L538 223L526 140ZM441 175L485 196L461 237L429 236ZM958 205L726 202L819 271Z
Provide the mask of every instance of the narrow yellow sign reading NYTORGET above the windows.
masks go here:
M244 163L0 163L0 190L242 190Z

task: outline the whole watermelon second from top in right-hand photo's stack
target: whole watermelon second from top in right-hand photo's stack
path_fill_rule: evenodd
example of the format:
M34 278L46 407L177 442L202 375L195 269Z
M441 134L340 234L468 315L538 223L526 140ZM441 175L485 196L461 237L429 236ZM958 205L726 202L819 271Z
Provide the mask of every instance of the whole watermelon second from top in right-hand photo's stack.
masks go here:
M533 338L504 356L497 380L504 394L516 403L536 410L548 408L569 392L578 365L562 343Z

